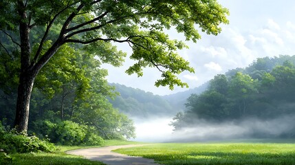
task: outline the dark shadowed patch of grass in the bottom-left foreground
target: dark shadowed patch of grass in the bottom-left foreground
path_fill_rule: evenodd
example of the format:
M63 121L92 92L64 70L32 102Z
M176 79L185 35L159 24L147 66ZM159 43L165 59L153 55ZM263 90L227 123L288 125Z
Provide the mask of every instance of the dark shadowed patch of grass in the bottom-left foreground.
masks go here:
M106 165L102 162L90 161L83 157L67 155L65 153L16 153L12 154L12 163L6 162L6 164L21 164L21 165L72 165L72 164L94 164L94 165Z

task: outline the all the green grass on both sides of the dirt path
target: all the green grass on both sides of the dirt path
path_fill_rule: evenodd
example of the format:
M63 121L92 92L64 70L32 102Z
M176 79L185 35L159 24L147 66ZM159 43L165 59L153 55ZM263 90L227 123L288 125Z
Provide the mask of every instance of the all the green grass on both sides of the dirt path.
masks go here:
M263 141L265 142L265 141ZM155 159L160 164L295 164L295 144L292 141L211 142L211 143L164 143L135 148L118 149L127 155ZM284 143L289 142L289 143ZM106 140L102 146L142 144L120 140ZM83 157L67 155L64 152L76 148L100 146L58 146L54 153L25 153L9 155L12 161L0 164L96 164Z

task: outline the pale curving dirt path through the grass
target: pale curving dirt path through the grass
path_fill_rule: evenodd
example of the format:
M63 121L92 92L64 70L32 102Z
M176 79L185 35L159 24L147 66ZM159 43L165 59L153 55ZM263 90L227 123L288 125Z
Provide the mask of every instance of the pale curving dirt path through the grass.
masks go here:
M118 148L129 148L133 146L144 146L144 144L131 144L124 146L105 146L101 148L85 148L67 151L66 153L72 155L82 155L87 159L97 160L109 165L159 165L155 164L153 159L146 159L142 157L131 157L114 153L113 150Z

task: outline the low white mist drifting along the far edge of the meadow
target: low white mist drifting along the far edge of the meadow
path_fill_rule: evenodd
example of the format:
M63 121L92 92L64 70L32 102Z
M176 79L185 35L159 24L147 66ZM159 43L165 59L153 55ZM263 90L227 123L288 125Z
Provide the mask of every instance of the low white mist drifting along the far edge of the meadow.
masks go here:
M190 126L173 131L172 118L133 119L139 142L206 142L212 140L246 140L286 137L295 129L295 115L270 120L248 118L221 123L196 120ZM293 131L294 132L294 131Z

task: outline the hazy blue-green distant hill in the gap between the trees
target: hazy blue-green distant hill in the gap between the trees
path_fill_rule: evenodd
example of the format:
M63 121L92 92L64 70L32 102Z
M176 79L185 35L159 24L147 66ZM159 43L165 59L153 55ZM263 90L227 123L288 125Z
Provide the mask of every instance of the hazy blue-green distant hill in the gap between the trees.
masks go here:
M177 112L184 111L184 104L190 94L200 94L206 90L207 84L188 91L159 96L142 89L111 83L110 85L116 87L116 91L120 93L120 96L109 101L113 104L113 107L130 117L149 118L153 115L172 117Z

